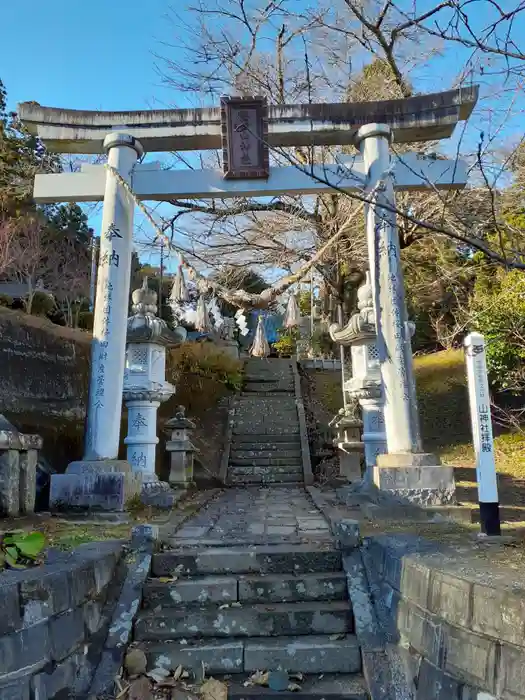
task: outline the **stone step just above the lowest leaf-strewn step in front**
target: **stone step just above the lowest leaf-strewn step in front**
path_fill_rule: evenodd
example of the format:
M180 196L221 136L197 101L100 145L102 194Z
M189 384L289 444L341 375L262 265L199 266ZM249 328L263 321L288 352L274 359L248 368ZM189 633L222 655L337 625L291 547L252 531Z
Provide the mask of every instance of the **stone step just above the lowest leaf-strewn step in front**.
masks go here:
M354 635L330 639L330 635L252 639L206 639L141 644L148 668L157 666L206 672L242 673L285 668L290 673L358 673L359 645ZM248 689L247 689L248 690ZM250 691L252 689L250 688ZM267 689L265 689L267 690Z

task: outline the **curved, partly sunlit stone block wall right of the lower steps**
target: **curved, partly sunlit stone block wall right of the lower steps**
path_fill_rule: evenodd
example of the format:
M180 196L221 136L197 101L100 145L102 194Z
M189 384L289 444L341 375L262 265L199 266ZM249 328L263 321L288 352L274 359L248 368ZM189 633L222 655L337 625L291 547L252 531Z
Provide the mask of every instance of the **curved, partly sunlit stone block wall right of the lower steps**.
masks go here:
M525 581L474 550L402 535L365 542L376 614L416 700L525 698Z

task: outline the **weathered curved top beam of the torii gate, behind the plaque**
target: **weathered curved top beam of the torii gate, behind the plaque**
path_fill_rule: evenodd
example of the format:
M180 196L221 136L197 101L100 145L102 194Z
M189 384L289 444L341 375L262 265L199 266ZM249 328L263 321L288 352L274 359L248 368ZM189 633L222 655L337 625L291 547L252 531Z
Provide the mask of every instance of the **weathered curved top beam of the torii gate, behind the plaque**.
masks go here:
M364 124L387 124L397 143L451 136L468 119L478 86L400 100L334 104L270 105L270 146L350 145ZM18 114L29 131L56 153L103 153L110 131L139 139L145 151L198 151L221 147L220 109L97 112L41 107L23 102Z

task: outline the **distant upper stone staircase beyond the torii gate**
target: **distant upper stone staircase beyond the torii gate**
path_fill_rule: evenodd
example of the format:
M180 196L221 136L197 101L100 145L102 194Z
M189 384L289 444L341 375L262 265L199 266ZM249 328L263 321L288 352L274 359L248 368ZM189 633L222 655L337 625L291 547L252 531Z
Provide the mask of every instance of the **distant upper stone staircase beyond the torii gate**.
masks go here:
M227 483L299 483L310 470L301 439L292 360L252 358L245 363L231 436ZM306 447L304 446L306 443Z

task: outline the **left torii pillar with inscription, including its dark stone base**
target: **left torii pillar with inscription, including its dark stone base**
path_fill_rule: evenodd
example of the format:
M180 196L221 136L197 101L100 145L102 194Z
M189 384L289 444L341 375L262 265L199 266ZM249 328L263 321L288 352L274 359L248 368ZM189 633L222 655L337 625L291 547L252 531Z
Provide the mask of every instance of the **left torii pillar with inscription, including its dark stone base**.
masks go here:
M122 132L104 140L108 165L131 184L140 142ZM51 477L54 509L124 510L140 485L118 460L134 202L108 169L97 269L84 458Z

